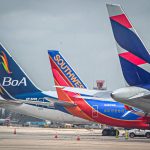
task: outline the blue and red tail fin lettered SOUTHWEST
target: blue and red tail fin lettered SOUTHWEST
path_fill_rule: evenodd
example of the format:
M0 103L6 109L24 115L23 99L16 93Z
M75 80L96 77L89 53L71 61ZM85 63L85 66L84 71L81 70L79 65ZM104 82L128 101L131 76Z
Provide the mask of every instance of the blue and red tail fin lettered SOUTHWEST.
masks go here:
M55 85L86 88L74 70L57 50L48 51Z

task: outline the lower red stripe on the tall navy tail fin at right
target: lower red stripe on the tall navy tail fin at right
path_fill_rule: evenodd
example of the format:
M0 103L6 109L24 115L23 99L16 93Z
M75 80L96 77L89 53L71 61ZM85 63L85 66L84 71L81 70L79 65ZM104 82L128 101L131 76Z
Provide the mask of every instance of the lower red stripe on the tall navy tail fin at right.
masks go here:
M130 53L130 52L124 52L119 54L120 57L128 60L129 62L135 64L135 65L142 65L145 64L146 61L144 61L143 59L137 57L136 55Z

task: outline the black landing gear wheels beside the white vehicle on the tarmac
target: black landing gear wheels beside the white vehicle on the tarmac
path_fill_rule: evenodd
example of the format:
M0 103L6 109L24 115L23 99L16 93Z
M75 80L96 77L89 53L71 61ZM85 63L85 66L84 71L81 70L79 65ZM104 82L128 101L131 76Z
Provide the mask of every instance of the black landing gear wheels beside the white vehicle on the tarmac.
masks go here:
M114 128L106 128L102 131L102 136L118 136L119 131Z

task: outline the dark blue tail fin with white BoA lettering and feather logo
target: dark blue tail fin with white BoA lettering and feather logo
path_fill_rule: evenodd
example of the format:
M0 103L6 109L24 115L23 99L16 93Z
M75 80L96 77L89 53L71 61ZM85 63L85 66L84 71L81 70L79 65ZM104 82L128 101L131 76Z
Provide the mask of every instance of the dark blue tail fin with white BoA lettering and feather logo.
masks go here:
M13 97L40 91L1 44L0 85Z

